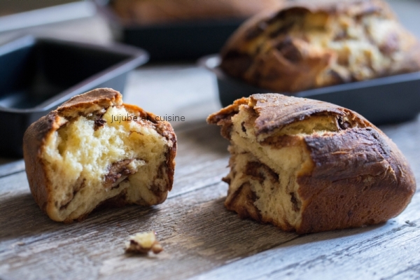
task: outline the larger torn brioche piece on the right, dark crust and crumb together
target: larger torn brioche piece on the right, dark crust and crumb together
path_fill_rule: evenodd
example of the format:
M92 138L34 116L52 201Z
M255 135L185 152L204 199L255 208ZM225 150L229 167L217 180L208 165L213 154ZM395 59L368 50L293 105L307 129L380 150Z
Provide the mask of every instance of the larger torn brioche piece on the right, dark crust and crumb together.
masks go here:
M253 94L214 113L231 142L225 206L297 233L360 227L400 214L416 183L391 139L357 113Z

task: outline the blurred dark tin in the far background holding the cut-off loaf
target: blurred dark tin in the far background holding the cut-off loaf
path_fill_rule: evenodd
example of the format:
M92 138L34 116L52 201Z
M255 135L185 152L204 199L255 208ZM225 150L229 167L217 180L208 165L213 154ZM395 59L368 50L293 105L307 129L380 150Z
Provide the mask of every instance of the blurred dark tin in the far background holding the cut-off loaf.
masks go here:
M210 0L211 1L211 0ZM198 59L219 52L244 18L194 20L160 25L127 25L108 6L96 0L123 43L144 48L151 62Z

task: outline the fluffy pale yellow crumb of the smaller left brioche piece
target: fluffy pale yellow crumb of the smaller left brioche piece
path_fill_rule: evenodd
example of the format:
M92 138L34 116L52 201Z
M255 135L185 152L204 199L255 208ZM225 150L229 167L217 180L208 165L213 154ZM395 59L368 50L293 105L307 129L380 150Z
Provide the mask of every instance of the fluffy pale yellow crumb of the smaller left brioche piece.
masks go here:
M166 160L167 140L146 120L113 120L135 114L112 106L64 119L66 124L46 139L43 160L52 182L49 201L55 204L49 207L56 221L88 214L122 192L130 203L157 203L151 183L165 184L158 172Z

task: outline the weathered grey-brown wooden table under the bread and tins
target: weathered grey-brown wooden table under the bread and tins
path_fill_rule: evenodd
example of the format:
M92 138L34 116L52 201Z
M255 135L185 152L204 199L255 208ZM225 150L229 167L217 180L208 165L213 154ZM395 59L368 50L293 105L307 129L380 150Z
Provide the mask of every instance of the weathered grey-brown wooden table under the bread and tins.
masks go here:
M90 22L95 32L76 32L81 23L57 26L45 28L109 40L101 20ZM412 30L419 32L418 25ZM387 223L302 236L227 211L221 178L228 173L228 142L205 123L219 108L216 92L214 77L193 64L131 74L125 102L186 118L172 123L179 141L174 188L157 207L107 209L80 223L55 223L31 197L22 160L0 159L0 279L420 279L419 192ZM420 181L420 118L381 128ZM147 230L157 232L165 251L126 255L127 237Z

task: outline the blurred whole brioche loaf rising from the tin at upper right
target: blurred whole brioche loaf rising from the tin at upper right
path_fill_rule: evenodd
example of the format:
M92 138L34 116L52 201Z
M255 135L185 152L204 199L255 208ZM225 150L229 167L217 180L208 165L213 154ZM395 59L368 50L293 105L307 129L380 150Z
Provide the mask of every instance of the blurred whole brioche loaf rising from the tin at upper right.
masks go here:
M276 92L420 71L420 43L380 0L288 2L222 50L230 76Z

